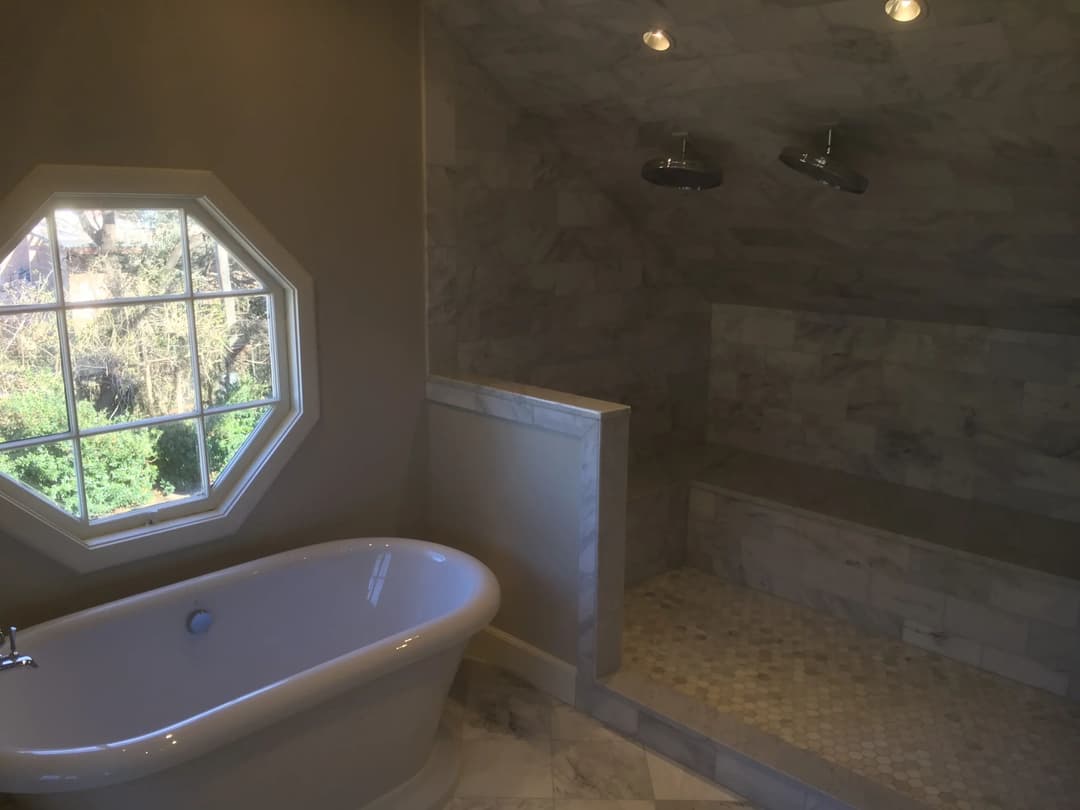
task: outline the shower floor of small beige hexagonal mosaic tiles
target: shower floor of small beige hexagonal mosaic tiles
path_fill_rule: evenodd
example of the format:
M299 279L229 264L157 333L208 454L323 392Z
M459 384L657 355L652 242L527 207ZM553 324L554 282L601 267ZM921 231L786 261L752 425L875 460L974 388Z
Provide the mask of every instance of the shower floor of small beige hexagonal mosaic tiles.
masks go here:
M626 594L623 667L931 808L1080 808L1080 704L679 569Z

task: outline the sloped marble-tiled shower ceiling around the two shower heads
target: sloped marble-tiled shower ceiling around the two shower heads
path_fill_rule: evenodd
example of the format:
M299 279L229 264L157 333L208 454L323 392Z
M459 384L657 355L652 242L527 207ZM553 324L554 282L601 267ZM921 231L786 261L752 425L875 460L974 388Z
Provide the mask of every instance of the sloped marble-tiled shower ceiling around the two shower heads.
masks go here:
M1080 332L1080 0L930 2L430 4L711 297ZM777 160L829 124L865 195ZM724 186L640 180L677 130Z

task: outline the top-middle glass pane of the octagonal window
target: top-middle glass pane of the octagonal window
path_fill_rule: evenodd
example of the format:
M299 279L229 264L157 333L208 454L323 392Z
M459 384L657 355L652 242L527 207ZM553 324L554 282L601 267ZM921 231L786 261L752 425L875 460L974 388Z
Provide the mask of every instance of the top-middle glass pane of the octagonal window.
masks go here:
M184 292L178 211L57 211L56 237L68 301Z

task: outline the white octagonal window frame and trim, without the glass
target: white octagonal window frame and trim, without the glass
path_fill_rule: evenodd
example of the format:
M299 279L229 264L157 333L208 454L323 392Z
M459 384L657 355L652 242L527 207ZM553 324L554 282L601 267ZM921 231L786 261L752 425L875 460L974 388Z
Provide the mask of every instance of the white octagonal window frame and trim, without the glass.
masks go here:
M255 272L266 287L266 291L238 291L237 295L269 295L273 301L269 315L276 373L271 400L204 411L197 395L194 413L190 416L144 419L105 431L83 431L83 435L186 418L195 419L201 426L206 416L216 413L259 405L273 407L238 457L208 488L205 497L157 504L92 522L86 515L85 504L82 517L77 518L24 487L2 480L0 530L78 571L97 570L156 556L234 532L319 418L314 285L311 276L213 174L177 170L38 166L0 202L0 239L3 240L0 256L13 249L46 215L64 207L184 210L242 265ZM51 235L55 242L55 234ZM59 265L54 267L53 272L57 289L55 303L0 311L55 312L59 308L63 312L65 303ZM125 299L121 303L220 300L224 297L227 295L220 293L195 294L186 281L183 293ZM82 303L72 302L69 306ZM94 302L85 303L94 306ZM66 353L66 336L63 333L60 341ZM198 347L193 345L190 350L195 367ZM65 370L65 380L70 389L69 369ZM75 407L72 391L67 393L70 413ZM65 438L69 438L76 430L73 423L68 427ZM199 433L202 438L202 427ZM202 457L205 455L205 443L201 444ZM205 467L206 459L201 458L200 464Z

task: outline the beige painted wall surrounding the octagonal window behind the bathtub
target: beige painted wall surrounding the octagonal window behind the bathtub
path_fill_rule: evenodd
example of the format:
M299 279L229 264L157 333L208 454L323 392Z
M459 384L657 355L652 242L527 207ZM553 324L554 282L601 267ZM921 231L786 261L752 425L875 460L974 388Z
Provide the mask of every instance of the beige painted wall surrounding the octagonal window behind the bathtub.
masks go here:
M6 4L0 193L43 162L215 172L315 279L322 419L232 538L78 577L0 527L0 619L418 529L419 28L407 0Z

